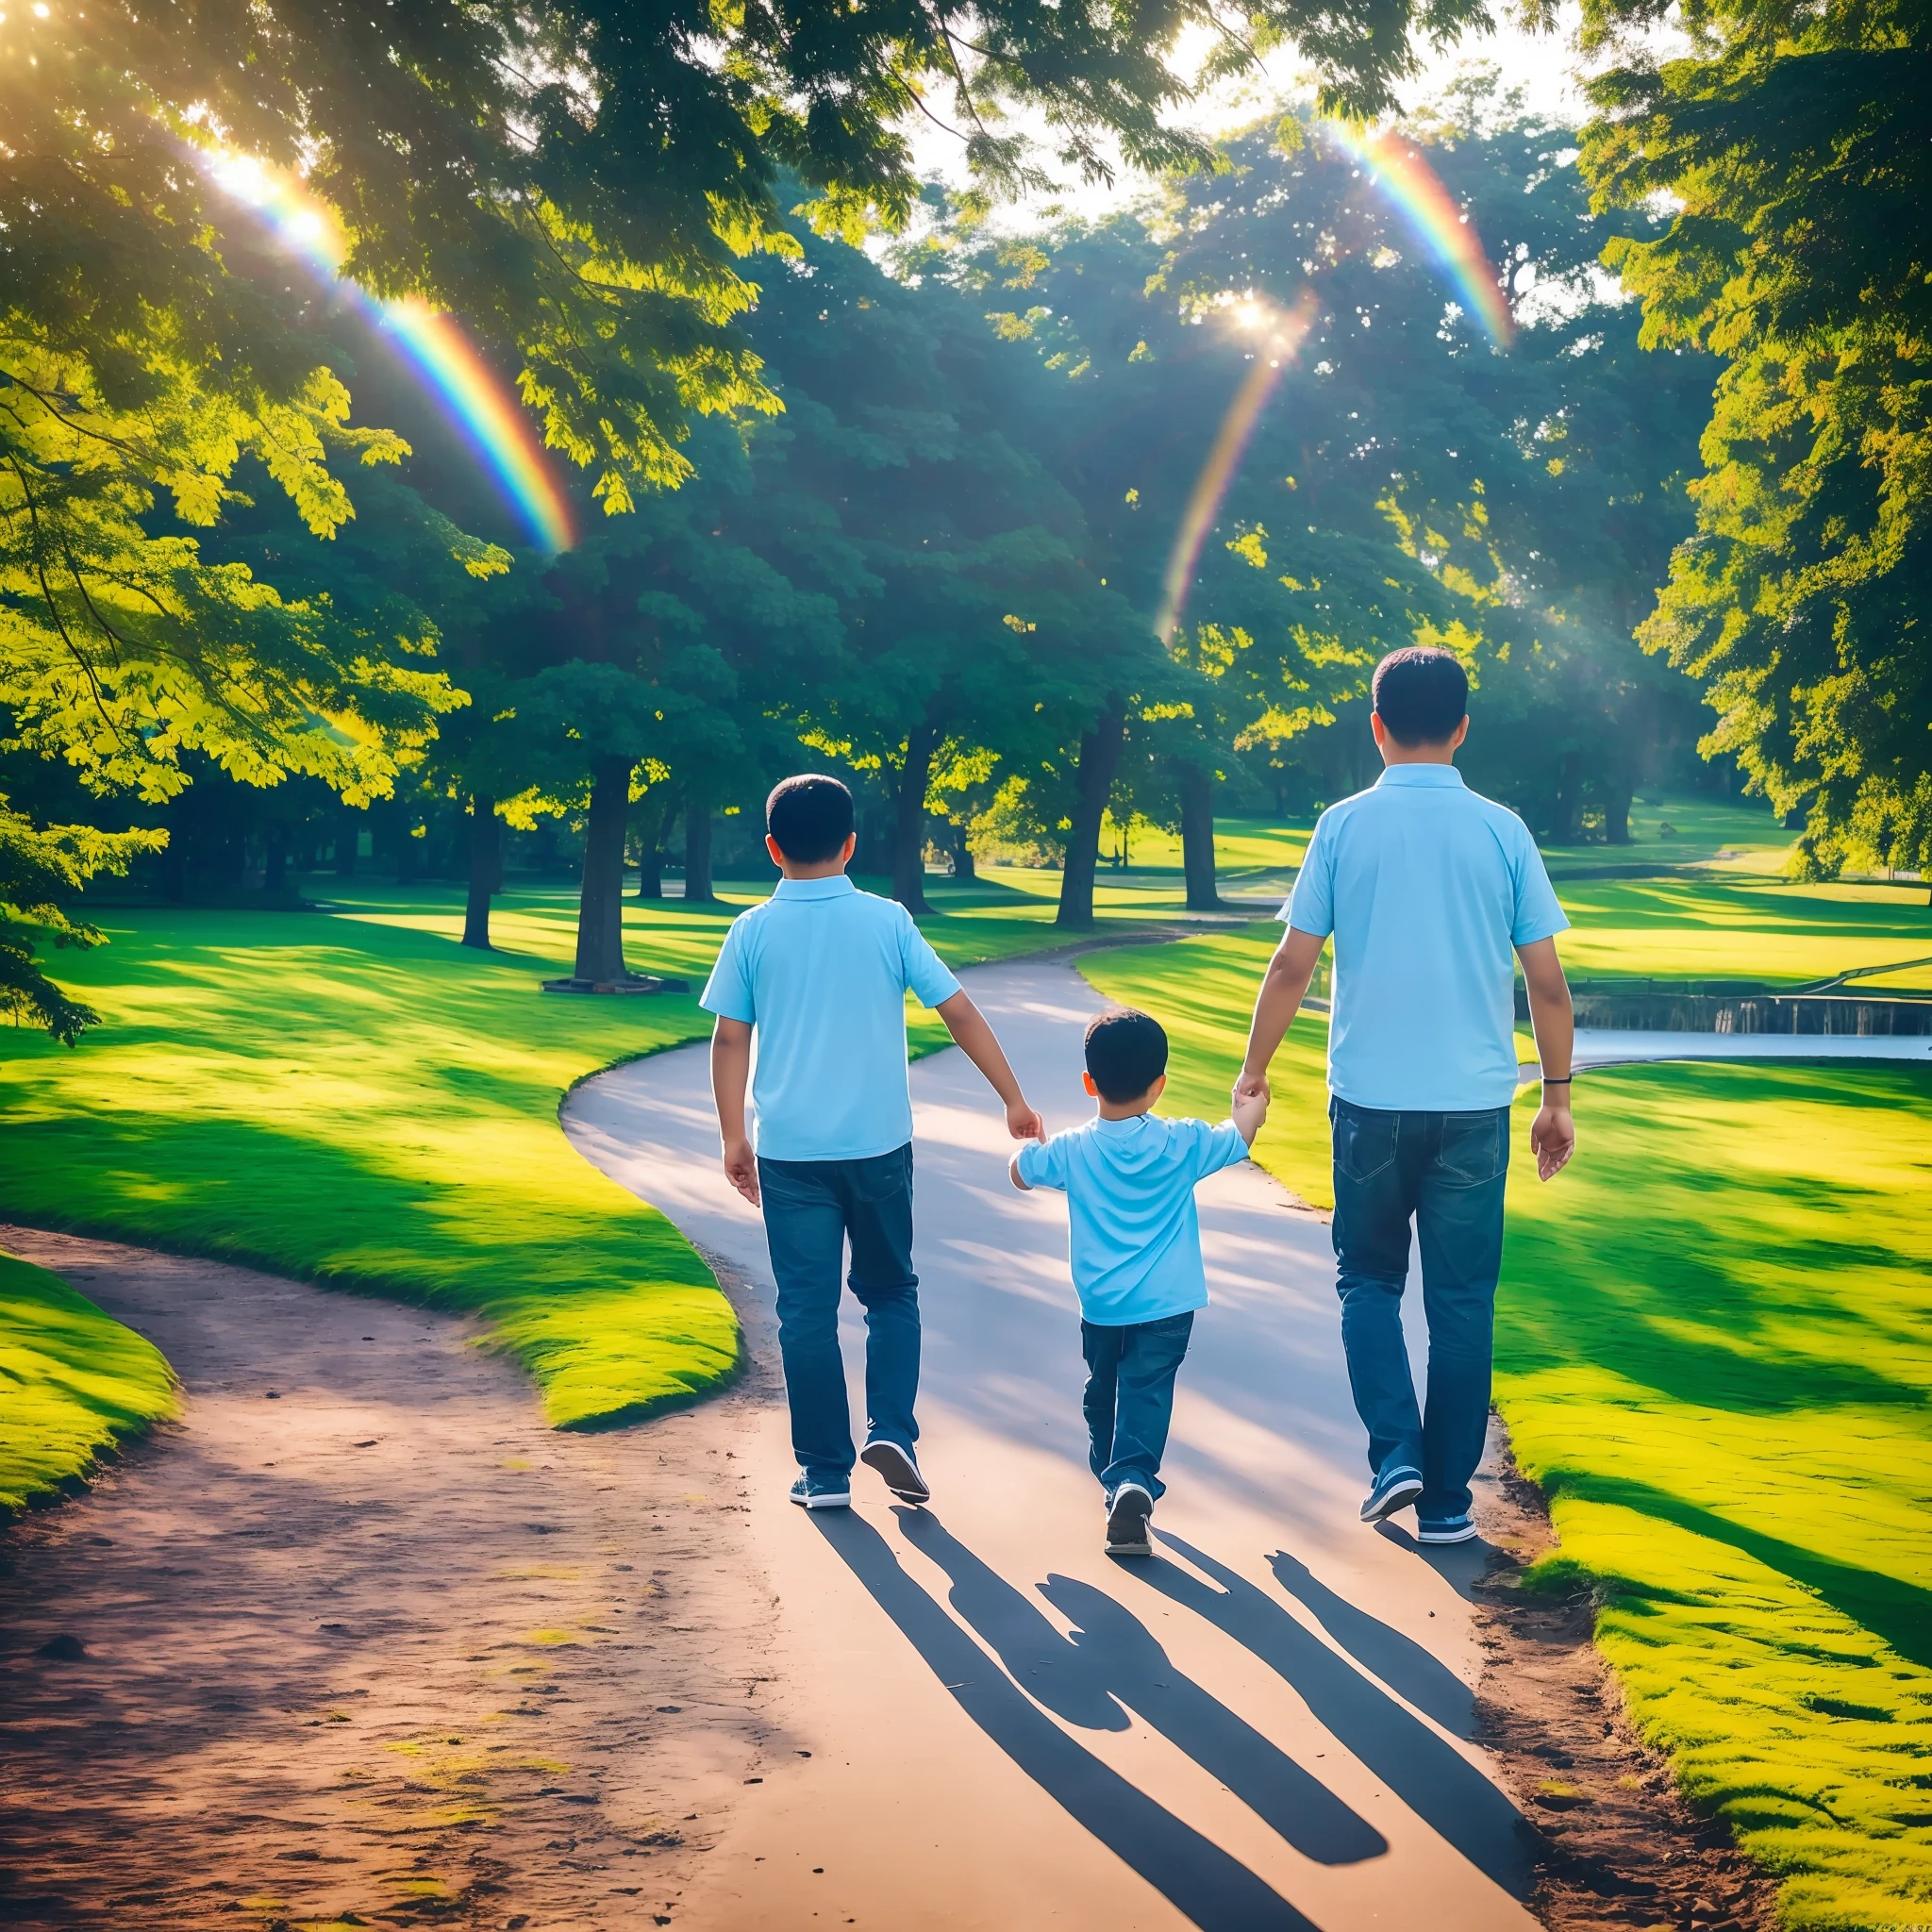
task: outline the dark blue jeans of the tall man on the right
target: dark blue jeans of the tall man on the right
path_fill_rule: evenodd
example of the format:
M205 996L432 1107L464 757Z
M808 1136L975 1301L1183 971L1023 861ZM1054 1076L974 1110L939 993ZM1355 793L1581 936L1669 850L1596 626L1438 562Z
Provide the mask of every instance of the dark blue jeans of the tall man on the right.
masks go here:
M1422 1472L1416 1517L1468 1513L1490 1424L1495 1277L1503 1265L1509 1109L1381 1113L1329 1101L1335 1128L1335 1264L1341 1341L1368 1466ZM1403 1345L1408 1223L1422 1244L1430 1325L1428 1414Z

